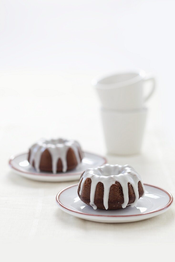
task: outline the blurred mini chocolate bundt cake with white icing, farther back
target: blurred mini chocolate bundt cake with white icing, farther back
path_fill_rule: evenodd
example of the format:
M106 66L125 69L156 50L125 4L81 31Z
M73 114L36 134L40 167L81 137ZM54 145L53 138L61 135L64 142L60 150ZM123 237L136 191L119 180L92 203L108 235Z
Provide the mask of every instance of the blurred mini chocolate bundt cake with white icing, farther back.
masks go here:
M66 172L75 168L83 158L77 141L41 139L29 149L28 161L38 172Z

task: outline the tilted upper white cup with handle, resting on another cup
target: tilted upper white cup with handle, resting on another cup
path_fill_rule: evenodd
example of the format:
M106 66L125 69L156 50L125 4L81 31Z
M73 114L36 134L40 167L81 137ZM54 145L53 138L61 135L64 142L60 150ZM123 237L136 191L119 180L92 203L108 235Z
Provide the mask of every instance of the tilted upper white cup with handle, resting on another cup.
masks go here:
M149 92L144 91L150 82ZM114 74L92 80L102 106L106 109L141 109L155 90L155 78L146 76L144 71Z

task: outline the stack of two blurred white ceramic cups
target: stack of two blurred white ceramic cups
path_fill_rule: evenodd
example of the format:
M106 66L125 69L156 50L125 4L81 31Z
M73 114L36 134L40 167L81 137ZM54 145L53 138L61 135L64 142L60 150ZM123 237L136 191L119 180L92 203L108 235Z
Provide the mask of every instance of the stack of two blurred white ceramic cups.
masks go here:
M144 95L146 82L151 83ZM102 124L108 154L132 155L141 151L147 117L145 102L155 90L155 79L144 71L114 74L92 80L102 108Z

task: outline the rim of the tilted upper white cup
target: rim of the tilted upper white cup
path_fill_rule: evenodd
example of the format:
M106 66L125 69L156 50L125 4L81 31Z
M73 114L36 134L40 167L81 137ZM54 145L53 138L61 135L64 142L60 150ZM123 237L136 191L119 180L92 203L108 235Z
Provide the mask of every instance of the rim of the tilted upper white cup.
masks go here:
M115 75L124 75L124 74L137 74L135 77L121 81L119 83L108 83L108 84L102 84L100 81L109 78L109 77L114 77ZM143 79L146 76L146 73L144 70L139 70L139 71L124 71L124 72L118 72L118 73L111 73L107 75L97 75L94 77L91 81L91 84L94 86L94 88L97 89L115 89L123 86L128 86L130 84L134 84L138 82L139 80Z

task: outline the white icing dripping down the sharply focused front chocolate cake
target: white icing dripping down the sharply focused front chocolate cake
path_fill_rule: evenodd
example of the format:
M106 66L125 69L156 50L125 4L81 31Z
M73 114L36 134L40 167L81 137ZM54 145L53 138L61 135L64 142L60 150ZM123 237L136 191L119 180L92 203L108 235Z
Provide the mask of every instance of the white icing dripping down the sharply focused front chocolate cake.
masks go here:
M81 187L79 194L81 195L84 182L87 178L91 178L91 193L90 193L90 205L93 209L97 209L97 206L94 204L94 197L96 192L96 186L98 182L103 183L104 185L104 196L103 204L105 209L108 209L108 200L109 200L109 191L110 187L119 182L123 189L124 203L122 208L125 208L128 205L129 195L128 195L128 183L130 183L134 189L135 201L131 206L135 206L139 200L139 191L138 191L138 182L141 182L142 188L145 194L145 187L142 182L140 175L129 165L120 166L120 165L103 165L96 168L87 169L82 178L80 179ZM82 182L81 182L82 181Z

